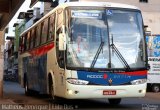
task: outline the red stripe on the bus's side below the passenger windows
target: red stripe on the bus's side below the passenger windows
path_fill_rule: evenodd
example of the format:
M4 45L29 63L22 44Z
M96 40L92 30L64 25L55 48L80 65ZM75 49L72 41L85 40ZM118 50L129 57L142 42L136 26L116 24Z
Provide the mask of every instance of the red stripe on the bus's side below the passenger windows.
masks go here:
M48 45L44 45L42 47L39 47L37 49L33 49L31 50L29 53L32 55L32 56L41 56L41 55L44 55L46 54L49 50L51 50L52 48L54 47L54 44L53 43L50 43Z

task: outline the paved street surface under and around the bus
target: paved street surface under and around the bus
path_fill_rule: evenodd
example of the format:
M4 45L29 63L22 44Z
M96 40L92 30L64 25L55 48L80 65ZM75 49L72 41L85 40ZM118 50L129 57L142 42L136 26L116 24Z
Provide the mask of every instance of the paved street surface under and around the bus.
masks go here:
M107 99L52 101L48 95L25 96L18 83L4 81L4 99L13 105L2 105L2 110L160 110L160 93L148 92L144 98L124 98L118 106L109 105Z

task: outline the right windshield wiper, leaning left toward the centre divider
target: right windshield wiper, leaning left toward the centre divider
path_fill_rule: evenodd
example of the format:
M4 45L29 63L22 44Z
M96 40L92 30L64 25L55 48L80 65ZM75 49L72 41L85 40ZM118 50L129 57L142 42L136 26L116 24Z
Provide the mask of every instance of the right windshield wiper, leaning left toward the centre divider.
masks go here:
M111 40L112 40L112 43L110 44L110 47L116 52L116 55L124 63L124 65L126 66L127 70L131 70L131 68L130 68L129 64L127 63L127 61L124 59L124 57L122 56L122 54L120 53L120 51L114 45L114 43L113 43L113 36L112 36Z

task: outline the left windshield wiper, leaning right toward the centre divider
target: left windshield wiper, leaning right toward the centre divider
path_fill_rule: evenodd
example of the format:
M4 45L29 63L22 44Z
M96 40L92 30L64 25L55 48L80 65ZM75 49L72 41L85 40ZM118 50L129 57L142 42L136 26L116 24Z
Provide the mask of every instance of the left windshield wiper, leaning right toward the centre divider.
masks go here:
M99 48L98 48L98 50L96 52L96 55L94 56L94 59L93 59L93 61L91 63L91 67L90 67L91 69L94 67L94 65L95 65L95 63L96 63L96 61L98 59L98 56L99 56L101 50L103 49L103 45L104 45L104 42L101 41L101 43L99 45Z

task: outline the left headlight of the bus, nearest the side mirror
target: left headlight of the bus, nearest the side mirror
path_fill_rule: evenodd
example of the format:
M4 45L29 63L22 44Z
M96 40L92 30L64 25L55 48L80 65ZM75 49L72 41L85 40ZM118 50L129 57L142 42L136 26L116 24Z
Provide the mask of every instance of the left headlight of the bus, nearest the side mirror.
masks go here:
M75 79L75 78L67 79L67 82L76 85L87 85L89 83L89 81Z

